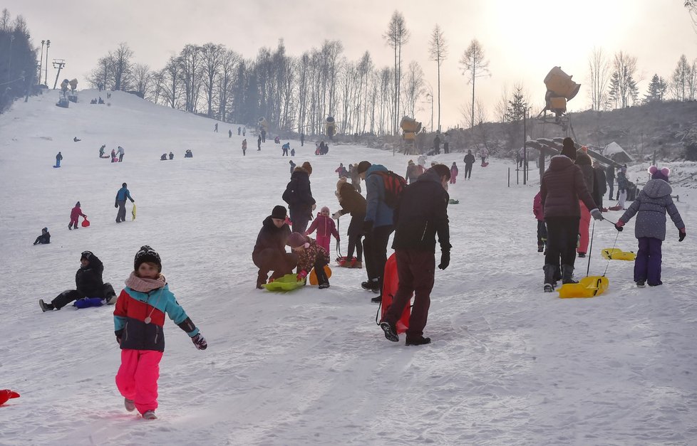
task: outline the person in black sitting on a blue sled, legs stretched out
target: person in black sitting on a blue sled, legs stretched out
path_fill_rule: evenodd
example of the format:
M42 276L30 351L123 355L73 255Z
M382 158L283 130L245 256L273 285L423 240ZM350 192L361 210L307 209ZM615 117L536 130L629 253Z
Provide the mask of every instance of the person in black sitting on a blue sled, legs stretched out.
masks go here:
M104 265L91 251L83 251L80 257L80 269L75 273L75 286L77 290L66 290L58 294L50 304L38 300L43 312L53 309L61 309L73 300L78 308L99 307L104 302L114 304L116 293L110 283L102 282Z

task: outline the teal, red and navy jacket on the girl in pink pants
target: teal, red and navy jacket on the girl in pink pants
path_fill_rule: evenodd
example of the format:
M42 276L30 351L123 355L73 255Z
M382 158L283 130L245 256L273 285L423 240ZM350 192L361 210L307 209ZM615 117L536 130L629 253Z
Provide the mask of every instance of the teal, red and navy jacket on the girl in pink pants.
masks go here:
M165 277L160 275L156 282L140 279L131 273L126 285L131 286L121 291L114 309L114 331L122 350L165 351L165 332L162 329L165 314L190 337L198 334L199 329L177 303Z

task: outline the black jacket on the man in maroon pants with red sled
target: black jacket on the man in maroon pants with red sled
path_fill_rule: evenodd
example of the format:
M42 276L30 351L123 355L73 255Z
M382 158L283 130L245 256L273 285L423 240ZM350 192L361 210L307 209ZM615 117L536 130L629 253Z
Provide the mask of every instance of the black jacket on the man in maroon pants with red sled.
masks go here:
M402 191L394 211L394 249L435 250L438 234L440 249L450 250L448 226L448 192L440 184L440 176L428 169Z

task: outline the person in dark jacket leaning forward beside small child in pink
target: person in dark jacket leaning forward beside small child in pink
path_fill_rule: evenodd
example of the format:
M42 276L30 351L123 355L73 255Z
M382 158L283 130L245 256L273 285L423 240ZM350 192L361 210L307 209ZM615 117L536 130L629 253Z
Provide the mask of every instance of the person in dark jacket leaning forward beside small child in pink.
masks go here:
M351 213L351 223L349 223L349 248L346 257L339 260L339 266L349 268L363 267L363 221L366 219L366 198L356 191L352 184L349 184L346 177L342 177L336 182L336 198L339 198L341 209L336 211L331 218L339 220L346 213ZM356 250L356 257L353 258L353 250Z

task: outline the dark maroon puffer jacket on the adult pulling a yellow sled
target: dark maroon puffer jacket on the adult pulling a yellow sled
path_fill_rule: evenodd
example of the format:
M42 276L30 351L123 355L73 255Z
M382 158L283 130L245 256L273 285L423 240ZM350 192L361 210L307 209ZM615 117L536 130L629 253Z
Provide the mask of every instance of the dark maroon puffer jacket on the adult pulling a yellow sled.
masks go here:
M539 186L544 218L581 217L579 199L589 210L596 209L579 166L568 156L555 155L549 161Z

